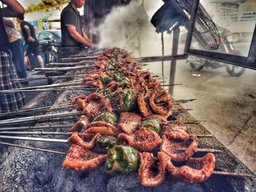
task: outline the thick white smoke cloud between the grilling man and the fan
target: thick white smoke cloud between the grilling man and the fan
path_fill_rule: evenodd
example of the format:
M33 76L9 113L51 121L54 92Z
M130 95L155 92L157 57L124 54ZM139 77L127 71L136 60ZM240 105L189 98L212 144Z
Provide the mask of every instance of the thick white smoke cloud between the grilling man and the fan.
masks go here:
M121 47L134 56L162 55L161 34L150 23L151 16L161 7L161 0L131 1L115 7L99 26L99 47ZM170 42L170 35L165 35ZM171 45L171 42L168 43ZM165 46L170 54L170 46Z

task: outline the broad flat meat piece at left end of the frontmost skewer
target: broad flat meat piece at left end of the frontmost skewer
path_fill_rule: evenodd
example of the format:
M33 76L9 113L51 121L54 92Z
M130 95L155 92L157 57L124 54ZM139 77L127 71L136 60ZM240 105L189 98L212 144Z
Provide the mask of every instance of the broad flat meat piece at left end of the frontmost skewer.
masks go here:
M102 166L106 158L107 155L86 150L78 145L71 145L62 166L65 169L75 169L75 171L91 171Z

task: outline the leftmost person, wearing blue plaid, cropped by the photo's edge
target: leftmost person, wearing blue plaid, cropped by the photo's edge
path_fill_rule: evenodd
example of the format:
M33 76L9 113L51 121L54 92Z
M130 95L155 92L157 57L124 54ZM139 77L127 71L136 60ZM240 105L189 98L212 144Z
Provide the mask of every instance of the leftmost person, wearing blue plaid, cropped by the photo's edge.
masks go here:
M16 0L0 0L7 7L0 7L0 91L21 88L17 81L15 67L12 63L12 53L7 32L4 28L4 17L21 17L25 10ZM23 93L0 93L0 112L12 112L19 110L25 103Z

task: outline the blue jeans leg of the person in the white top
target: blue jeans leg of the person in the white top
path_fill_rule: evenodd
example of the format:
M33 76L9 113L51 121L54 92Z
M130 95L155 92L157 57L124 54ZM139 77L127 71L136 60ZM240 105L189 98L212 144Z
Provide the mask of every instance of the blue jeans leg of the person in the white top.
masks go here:
M19 39L10 44L12 50L12 61L19 78L26 78L26 68L24 66L23 41Z

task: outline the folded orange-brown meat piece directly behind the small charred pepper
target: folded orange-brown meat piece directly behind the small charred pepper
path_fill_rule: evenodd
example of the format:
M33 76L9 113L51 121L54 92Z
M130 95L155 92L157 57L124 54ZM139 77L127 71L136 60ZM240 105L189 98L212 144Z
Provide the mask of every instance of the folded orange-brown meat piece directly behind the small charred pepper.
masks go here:
M99 120L96 122L92 122L90 124L90 127L86 130L86 133L89 133L89 134L99 133L102 135L114 136L120 133L120 131L118 130L118 128L111 125L110 123L107 123L103 120Z

